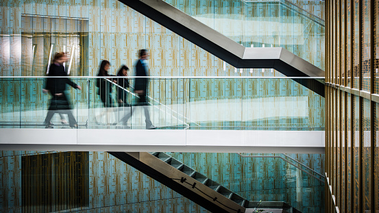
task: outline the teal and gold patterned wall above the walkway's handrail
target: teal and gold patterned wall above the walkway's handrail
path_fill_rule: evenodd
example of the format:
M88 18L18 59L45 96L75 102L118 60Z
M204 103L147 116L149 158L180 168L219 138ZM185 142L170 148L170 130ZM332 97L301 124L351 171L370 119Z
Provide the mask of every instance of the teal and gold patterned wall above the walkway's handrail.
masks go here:
M304 10L280 1L254 5L240 0L193 1L189 5L199 20L215 22L215 29L242 45L284 47L324 69L323 20ZM224 68L219 58L116 0L1 1L0 18L2 76L45 75L52 45L53 53L82 55L73 64L84 68L73 75L97 75L101 60L110 61L110 73L121 64L132 68L138 49L147 48L149 74L154 76L282 76L271 69L241 72L229 64ZM84 26L78 27L78 21Z

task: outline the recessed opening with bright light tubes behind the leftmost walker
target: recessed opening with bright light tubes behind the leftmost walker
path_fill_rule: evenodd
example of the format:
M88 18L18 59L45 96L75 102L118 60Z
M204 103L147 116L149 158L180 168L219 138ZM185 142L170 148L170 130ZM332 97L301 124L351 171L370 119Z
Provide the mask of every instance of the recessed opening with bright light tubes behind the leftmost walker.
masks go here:
M21 64L23 76L43 76L54 53L66 52L69 75L88 75L88 19L66 17L22 17Z

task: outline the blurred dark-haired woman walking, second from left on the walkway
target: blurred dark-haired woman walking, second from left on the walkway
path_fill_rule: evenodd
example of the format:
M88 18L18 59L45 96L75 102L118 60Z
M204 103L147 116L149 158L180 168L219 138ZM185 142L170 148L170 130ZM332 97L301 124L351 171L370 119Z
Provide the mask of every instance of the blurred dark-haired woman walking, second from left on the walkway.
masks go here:
M113 111L112 108L114 107L114 103L112 100L112 86L113 85L112 85L112 82L108 81L112 79L107 78L110 76L108 74L109 68L110 68L110 62L108 62L107 60L103 60L100 64L99 73L97 74L97 76L105 77L105 78L98 78L96 81L96 86L99 88L97 91L97 95L100 96L101 102L103 102L104 108L106 108L106 111L101 112L99 116L95 117L95 120L97 123L101 121L101 118L104 114L107 114L108 112L112 112ZM116 80L113 80L113 81L116 82ZM110 116L107 116L107 117L110 118ZM117 115L115 114L115 118L116 117ZM109 124L110 122L108 122L108 120L109 119L107 119L107 123ZM115 125L115 124L117 123L112 123L112 125Z

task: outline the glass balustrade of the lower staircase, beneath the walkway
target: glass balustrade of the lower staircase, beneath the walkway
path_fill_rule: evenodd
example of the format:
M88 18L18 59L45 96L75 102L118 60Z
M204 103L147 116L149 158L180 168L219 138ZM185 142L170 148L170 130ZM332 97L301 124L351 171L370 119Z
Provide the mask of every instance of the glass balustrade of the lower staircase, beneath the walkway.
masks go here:
M259 201L278 201L304 213L325 212L325 178L295 160L284 160L284 154L167 154L249 200L250 208Z

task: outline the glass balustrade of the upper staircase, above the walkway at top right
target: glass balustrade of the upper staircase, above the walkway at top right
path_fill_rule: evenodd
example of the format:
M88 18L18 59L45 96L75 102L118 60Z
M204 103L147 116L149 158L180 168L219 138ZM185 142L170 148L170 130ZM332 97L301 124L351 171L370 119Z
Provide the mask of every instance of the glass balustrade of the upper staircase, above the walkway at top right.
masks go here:
M325 69L324 21L286 0L164 0L244 47L283 47Z

